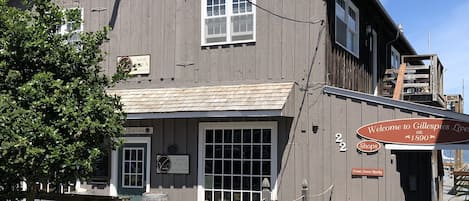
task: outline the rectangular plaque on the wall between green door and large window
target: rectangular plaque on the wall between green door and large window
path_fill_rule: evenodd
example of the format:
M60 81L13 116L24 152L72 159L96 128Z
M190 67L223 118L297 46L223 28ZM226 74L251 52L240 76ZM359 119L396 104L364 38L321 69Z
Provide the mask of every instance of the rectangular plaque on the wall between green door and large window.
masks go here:
M189 174L189 155L156 155L156 173Z

